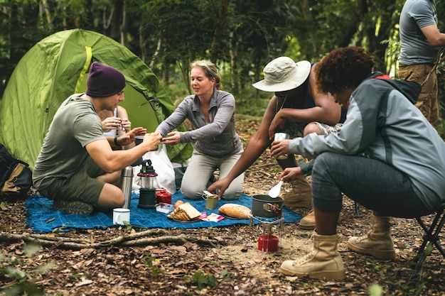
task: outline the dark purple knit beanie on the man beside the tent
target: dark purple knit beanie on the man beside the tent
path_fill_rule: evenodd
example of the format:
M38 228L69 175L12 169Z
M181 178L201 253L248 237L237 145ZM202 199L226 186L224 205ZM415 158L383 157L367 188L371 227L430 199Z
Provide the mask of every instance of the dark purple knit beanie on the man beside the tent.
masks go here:
M87 92L90 97L109 97L122 91L125 77L114 67L93 62L87 80Z

